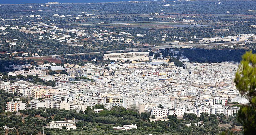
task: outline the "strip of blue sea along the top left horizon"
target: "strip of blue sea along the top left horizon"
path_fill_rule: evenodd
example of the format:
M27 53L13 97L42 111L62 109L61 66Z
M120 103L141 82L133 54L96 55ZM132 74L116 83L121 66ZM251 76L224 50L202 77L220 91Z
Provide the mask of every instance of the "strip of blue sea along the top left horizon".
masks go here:
M26 3L48 3L48 2L59 2L59 3L91 3L91 2L120 2L120 1L131 1L131 0L0 0L0 4L26 4Z

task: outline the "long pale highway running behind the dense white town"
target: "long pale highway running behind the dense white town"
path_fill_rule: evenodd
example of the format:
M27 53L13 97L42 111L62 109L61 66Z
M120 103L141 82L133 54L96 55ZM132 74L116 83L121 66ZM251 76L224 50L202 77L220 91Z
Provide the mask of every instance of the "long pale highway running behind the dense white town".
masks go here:
M246 41L246 43L252 43L256 41ZM220 44L235 44L235 43L245 43L245 41L238 41L238 42L227 42L227 43L211 43L211 44L196 44L196 45L191 45L189 46L209 46L209 45L220 45ZM117 51L138 51L138 50L147 50L149 48L151 49L167 49L167 48L175 48L175 47L182 47L186 45L179 45L179 44L174 44L174 45L163 45L159 47L148 47L148 48L129 48L129 49L124 49L124 50L112 50L112 51L106 51L106 53L111 53L111 52L117 52ZM210 47L210 46L209 46ZM89 53L73 53L73 54L60 54L60 55L47 55L47 56L30 56L30 57L15 57L15 58L43 58L43 57L55 57L55 56L64 56L64 55L83 55L83 54L94 54L94 53L100 53L100 52L89 52Z

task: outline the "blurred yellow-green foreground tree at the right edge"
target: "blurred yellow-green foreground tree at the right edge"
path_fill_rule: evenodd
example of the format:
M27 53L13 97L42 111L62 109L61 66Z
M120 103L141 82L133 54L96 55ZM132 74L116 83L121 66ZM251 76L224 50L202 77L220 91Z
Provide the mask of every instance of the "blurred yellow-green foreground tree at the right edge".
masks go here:
M256 55L252 51L242 56L234 82L241 95L250 103L242 105L237 120L244 126L244 134L253 135L256 132Z

